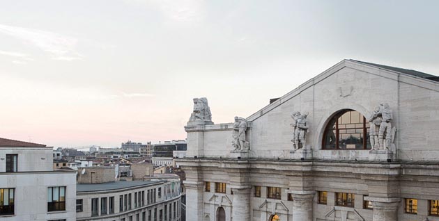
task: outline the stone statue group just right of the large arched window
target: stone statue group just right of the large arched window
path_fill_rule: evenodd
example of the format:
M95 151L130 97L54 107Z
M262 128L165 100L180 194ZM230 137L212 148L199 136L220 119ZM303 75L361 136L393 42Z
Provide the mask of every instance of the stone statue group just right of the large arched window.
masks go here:
M380 104L375 108L375 111L369 117L372 149L389 149L392 145L396 133L396 127L392 128L392 119L393 115L389 104Z

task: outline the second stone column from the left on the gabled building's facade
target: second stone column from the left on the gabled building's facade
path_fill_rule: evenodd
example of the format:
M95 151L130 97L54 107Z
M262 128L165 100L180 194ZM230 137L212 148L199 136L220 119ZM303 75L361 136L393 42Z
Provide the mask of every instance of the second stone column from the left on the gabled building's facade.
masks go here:
M231 188L233 191L233 220L250 221L250 193L252 187Z

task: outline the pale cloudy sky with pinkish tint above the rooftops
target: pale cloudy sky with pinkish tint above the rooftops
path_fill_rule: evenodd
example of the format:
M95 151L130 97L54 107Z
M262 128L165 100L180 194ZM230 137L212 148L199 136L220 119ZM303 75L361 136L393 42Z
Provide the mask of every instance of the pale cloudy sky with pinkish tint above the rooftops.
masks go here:
M439 74L439 1L2 1L0 137L185 139L353 58Z

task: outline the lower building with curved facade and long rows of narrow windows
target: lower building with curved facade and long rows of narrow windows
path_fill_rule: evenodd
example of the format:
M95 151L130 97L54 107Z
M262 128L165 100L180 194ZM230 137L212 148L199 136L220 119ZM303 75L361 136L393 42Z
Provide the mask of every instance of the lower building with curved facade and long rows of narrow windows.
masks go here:
M77 220L180 221L180 180L78 184Z

